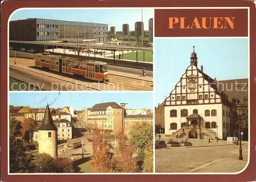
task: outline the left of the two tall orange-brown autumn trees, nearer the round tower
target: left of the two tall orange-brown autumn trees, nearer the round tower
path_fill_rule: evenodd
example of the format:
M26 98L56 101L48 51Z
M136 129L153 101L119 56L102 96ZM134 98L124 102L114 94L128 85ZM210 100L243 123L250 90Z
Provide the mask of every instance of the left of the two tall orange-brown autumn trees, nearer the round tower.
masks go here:
M103 130L95 127L92 168L95 172L114 172L113 147L103 143Z

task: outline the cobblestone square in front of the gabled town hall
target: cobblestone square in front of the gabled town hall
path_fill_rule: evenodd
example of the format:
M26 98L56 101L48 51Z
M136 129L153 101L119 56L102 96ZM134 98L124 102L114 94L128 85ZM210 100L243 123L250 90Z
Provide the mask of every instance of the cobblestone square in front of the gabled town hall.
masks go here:
M190 140L191 142L191 140ZM191 147L156 148L156 172L239 172L247 164L248 143L242 144L243 161L239 161L239 145L226 142L208 144L192 141Z

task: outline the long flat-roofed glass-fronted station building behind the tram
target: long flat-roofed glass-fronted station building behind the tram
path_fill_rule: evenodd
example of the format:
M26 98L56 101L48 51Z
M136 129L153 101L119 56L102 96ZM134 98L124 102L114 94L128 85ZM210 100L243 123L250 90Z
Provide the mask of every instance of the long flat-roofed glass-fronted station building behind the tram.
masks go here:
M58 39L106 42L108 24L54 19L28 18L10 21L9 40L49 41Z

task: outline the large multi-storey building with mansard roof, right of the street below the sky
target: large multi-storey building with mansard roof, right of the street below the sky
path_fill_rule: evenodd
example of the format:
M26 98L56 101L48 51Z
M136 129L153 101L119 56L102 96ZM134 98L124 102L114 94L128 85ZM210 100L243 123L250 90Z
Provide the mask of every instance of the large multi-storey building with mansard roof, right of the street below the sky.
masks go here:
M105 134L115 134L122 128L122 113L116 102L98 103L88 110L87 122L104 129Z

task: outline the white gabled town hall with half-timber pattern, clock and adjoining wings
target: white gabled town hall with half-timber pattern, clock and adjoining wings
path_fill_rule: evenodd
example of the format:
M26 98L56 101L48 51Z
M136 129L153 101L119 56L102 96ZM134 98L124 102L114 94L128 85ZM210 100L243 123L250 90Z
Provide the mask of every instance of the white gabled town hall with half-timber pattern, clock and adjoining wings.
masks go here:
M238 109L248 107L248 79L212 79L203 66L198 68L197 60L194 50L178 83L155 108L156 125L164 127L165 136L173 138L237 137Z

